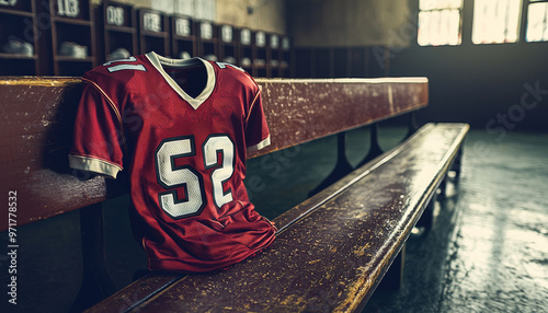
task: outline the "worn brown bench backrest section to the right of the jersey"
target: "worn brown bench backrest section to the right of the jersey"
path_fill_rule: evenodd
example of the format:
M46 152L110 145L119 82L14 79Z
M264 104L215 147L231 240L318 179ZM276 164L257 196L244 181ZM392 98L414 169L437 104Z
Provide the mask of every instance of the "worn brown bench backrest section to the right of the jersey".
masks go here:
M426 78L258 79L272 143L256 156L425 107Z

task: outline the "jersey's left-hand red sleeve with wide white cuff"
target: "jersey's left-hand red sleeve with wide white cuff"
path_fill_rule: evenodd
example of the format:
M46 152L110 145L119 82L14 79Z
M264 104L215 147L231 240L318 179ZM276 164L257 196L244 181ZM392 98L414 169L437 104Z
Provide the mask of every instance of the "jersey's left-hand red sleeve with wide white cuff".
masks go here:
M69 165L116 178L123 170L124 135L117 107L93 82L83 80Z

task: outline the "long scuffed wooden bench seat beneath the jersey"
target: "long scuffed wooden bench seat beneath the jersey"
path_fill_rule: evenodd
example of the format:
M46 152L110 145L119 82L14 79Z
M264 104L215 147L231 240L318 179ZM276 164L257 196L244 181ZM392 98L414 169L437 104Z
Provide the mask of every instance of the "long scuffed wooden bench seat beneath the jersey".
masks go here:
M273 246L218 274L191 275L136 312L355 312L409 236L468 130L429 125L286 228ZM387 158L387 160L385 160ZM362 172L363 173L363 172ZM363 177L362 177L363 176ZM297 215L298 216L298 215Z

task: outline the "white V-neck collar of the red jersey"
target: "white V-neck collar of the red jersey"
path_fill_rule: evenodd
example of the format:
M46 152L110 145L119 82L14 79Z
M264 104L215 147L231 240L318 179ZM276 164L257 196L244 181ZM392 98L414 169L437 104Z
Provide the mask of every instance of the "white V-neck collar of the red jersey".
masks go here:
M155 66L158 72L163 77L163 79L168 82L168 84L181 97L186 101L194 109L197 109L202 103L204 103L213 93L215 89L215 69L212 63L202 59L202 58L192 58L192 59L170 59L167 57L162 57L155 51L150 51L145 55L150 62ZM204 63L207 70L207 83L202 93L196 96L190 96L184 90L165 72L162 65L168 65L170 67L185 67L199 60Z

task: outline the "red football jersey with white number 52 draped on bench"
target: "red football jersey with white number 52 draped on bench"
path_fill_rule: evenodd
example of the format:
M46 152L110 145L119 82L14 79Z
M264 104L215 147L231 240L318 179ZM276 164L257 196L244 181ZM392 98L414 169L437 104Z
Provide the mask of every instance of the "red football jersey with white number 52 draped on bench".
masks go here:
M127 169L151 270L220 269L273 242L243 185L246 151L270 144L248 73L149 53L82 81L70 166L114 178Z

